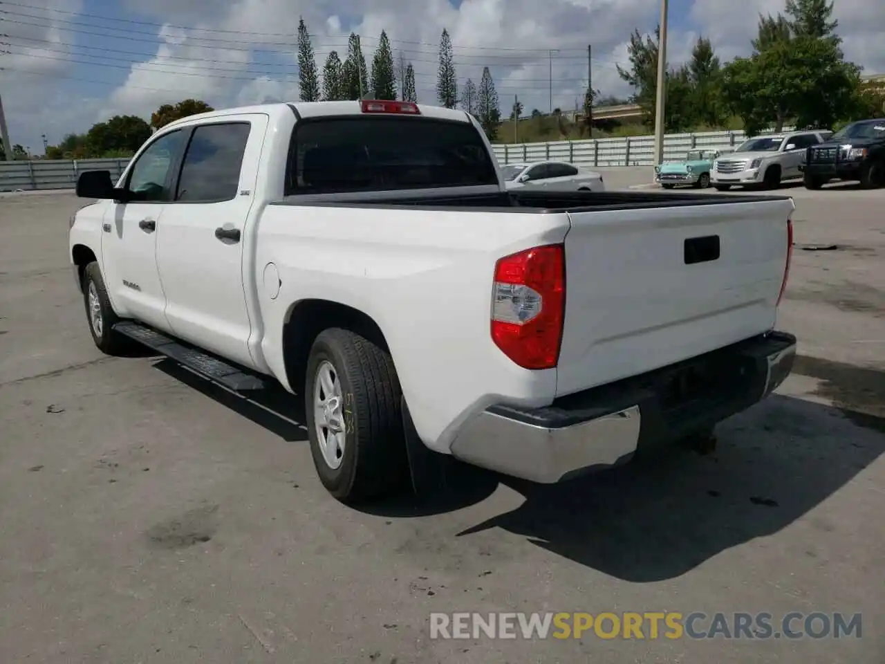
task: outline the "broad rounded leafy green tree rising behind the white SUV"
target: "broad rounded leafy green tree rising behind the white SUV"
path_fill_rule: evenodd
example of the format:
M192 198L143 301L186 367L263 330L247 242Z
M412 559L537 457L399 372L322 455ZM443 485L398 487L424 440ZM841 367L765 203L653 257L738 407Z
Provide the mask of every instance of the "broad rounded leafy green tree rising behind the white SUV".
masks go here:
M800 36L775 42L723 70L722 93L748 134L767 125L781 131L788 119L797 127L830 127L856 108L860 73L845 62L834 40Z

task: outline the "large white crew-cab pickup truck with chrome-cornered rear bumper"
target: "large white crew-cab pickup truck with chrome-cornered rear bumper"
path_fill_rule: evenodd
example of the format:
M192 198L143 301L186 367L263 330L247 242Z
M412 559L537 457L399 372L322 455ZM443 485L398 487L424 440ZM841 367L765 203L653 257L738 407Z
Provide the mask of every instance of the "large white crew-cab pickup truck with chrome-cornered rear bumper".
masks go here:
M204 113L77 193L97 347L301 395L342 500L414 483L416 450L540 483L611 466L765 398L796 352L789 197L507 192L465 112Z

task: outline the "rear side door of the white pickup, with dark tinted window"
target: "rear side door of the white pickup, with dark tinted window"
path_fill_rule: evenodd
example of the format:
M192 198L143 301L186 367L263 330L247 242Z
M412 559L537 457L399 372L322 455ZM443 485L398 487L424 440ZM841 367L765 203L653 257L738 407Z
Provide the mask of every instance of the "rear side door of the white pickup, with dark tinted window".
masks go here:
M173 333L247 367L253 365L243 249L266 127L261 114L193 127L158 235L165 315Z

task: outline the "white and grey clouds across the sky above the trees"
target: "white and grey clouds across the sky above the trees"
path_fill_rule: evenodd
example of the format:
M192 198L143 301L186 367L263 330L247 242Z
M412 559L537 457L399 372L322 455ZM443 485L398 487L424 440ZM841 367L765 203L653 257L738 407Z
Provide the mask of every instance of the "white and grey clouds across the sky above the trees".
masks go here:
M0 60L7 67L7 71L0 71L0 92L4 93L13 140L27 141L37 150L42 132L57 141L67 131L83 130L112 113L147 118L159 104L184 97L202 98L216 107L296 98L294 42L299 16L304 16L312 30L320 69L329 50L344 57L351 30L364 35L363 50L371 62L377 36L386 29L394 50L403 51L405 58L412 60L419 100L427 102L435 100L436 51L443 27L449 29L455 46L460 81L470 77L478 82L482 67L490 66L503 110L510 107L514 93L527 109L550 106L547 50L556 49L553 105L570 108L575 99L580 103L586 86L588 43L593 45L594 87L604 94L629 93L614 63L626 62L627 39L635 27L644 32L655 26L659 7L658 0L465 0L458 7L449 0L423 4L406 0L234 0L230 4L216 0L155 0L152 4L123 0L121 7L137 10L139 19L146 16L165 24L156 30L155 44L146 49L146 42L139 43L140 50L152 50L153 58L132 65L126 80L108 89L103 97L71 98L58 92L53 77L74 75L72 64L63 55L69 50L65 42L89 44L90 38L72 36L58 27L64 27L64 20L89 23L92 19L58 12L81 12L82 0L28 0L28 4L38 9L20 11L42 18L21 20L42 27L4 24L4 32L12 35L15 46L14 54ZM697 34L710 37L724 60L746 53L758 13L778 12L783 5L781 0L682 0L670 6L668 60L676 64L688 57ZM885 3L839 0L835 12L846 55L866 66L867 72L885 72L885 49L881 47L885 43ZM60 46L54 47L53 42ZM265 52L255 57L251 52L261 49L275 54ZM129 65L133 59L112 52L104 57L105 64L117 65ZM91 70L80 67L76 75L107 81L115 73L96 66Z

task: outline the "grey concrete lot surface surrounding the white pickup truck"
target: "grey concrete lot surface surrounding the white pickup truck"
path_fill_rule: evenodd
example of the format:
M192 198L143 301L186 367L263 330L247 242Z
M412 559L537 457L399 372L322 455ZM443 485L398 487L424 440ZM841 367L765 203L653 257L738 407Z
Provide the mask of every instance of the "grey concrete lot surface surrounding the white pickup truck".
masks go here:
M273 396L286 421L102 356L66 257L82 202L0 198L0 662L885 662L885 191L784 192L779 327L803 357L715 452L546 488L465 471L371 511L322 489L296 399ZM432 612L472 611L861 613L862 633L430 639Z

